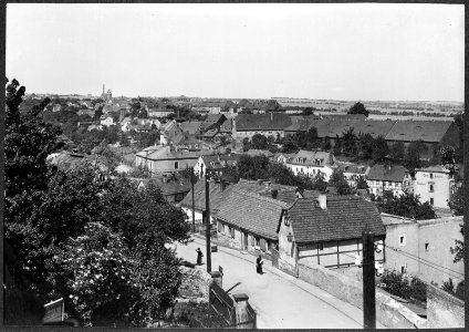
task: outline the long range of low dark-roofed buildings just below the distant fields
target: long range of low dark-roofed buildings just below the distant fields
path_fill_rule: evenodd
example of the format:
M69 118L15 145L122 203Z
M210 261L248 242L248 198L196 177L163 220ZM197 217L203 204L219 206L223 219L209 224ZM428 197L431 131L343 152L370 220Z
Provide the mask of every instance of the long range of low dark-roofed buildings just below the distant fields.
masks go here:
M283 113L240 114L233 121L233 137L251 138L256 134L264 136L293 135L298 131L306 132L315 127L317 139L329 138L334 145L337 137L351 128L356 134L369 134L374 138L383 136L386 142L394 144L402 142L405 145L423 141L431 148L435 145L457 145L459 128L450 121L428 120L369 120L363 116L290 116Z

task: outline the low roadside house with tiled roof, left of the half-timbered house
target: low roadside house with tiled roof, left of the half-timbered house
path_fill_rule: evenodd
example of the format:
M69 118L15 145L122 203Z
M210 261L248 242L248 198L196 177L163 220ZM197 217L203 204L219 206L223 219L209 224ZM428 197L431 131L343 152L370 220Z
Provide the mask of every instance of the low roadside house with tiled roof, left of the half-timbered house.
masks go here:
M277 247L277 226L286 206L284 201L233 186L215 215L218 241L269 255Z

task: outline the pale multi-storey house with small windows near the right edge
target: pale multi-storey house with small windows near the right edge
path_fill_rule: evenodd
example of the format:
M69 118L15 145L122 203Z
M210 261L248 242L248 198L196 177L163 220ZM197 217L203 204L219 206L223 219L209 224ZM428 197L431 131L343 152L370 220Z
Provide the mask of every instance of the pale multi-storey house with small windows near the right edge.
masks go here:
M451 195L461 185L462 179L441 165L415 169L414 194L434 207L448 209Z

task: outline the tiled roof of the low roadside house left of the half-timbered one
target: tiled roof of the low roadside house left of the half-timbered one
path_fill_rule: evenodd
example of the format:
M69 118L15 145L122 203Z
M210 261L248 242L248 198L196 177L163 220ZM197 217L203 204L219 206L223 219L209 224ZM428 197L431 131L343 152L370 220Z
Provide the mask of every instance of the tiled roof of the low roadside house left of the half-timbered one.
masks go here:
M233 187L216 215L221 221L269 239L278 239L277 227L286 204Z

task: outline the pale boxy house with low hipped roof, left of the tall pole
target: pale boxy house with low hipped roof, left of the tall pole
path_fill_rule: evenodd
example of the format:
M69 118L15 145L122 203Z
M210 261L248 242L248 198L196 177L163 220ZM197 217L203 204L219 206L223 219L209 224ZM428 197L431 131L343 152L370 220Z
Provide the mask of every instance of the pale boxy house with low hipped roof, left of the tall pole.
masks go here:
M198 156L175 146L163 146L156 151L142 151L135 156L135 165L154 174L177 173L195 166Z

